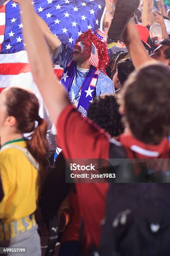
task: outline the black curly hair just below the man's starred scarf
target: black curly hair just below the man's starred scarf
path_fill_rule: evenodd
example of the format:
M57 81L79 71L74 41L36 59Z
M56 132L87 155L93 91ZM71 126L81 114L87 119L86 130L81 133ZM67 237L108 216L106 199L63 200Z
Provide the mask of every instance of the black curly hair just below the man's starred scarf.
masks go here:
M118 111L119 105L114 94L95 97L87 111L87 117L105 129L112 137L123 133L122 116Z

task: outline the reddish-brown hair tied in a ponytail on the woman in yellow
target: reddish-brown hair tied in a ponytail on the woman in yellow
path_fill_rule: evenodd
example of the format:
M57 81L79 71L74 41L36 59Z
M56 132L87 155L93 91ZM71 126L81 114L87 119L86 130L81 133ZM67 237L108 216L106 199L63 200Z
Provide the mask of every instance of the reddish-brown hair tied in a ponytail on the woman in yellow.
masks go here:
M31 139L26 141L27 148L40 164L41 172L47 169L47 122L40 118L37 97L26 90L12 87L6 95L7 115L17 120L20 133L32 133ZM35 121L38 125L35 128Z

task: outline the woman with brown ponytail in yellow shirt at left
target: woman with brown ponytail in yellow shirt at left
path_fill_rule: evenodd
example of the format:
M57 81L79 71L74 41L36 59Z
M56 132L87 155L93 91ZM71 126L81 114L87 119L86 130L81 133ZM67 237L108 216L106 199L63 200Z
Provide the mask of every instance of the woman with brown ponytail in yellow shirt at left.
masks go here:
M0 247L25 247L29 256L41 255L34 212L47 171L47 123L38 111L31 92L10 88L0 94Z

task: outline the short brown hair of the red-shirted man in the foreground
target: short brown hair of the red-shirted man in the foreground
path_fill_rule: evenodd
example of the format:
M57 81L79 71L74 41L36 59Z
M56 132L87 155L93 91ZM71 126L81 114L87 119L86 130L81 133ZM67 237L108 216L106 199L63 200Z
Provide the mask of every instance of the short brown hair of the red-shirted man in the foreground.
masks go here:
M170 131L170 69L152 64L133 72L122 90L125 118L133 136L158 144Z

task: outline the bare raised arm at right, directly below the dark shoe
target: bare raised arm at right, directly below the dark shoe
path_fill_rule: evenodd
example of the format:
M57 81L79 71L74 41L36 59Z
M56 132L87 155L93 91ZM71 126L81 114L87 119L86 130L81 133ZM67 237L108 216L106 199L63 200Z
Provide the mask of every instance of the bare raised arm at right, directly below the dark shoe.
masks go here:
M134 21L127 25L122 40L130 53L135 68L144 64L146 61L153 61L140 41Z

